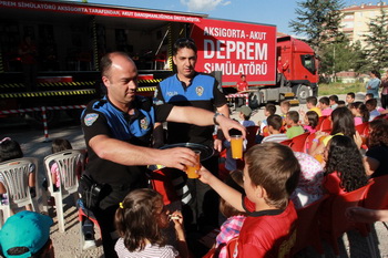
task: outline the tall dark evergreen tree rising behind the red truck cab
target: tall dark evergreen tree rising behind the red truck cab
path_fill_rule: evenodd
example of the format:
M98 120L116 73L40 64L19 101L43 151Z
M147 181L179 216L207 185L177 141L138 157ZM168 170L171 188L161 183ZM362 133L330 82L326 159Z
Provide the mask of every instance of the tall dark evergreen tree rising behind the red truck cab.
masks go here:
M297 18L289 27L297 34L304 34L316 51L328 41L341 40L344 34L338 30L344 8L343 0L306 0L297 2Z

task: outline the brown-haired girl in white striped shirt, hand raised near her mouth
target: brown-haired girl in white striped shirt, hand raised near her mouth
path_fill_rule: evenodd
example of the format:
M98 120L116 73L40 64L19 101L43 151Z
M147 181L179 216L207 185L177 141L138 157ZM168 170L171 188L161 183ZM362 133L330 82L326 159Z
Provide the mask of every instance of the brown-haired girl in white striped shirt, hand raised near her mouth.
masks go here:
M178 241L178 251L166 245L162 228L173 220ZM187 245L180 211L170 211L163 204L163 196L150 188L132 190L120 203L115 213L115 227L120 238L115 244L119 257L187 257Z

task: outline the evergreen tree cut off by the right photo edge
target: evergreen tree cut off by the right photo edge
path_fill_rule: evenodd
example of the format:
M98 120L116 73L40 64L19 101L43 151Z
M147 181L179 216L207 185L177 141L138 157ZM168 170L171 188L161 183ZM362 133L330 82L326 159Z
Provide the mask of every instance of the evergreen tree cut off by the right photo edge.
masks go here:
M388 68L388 14L382 7L380 14L370 19L369 33L365 34L365 49L370 69L379 71Z

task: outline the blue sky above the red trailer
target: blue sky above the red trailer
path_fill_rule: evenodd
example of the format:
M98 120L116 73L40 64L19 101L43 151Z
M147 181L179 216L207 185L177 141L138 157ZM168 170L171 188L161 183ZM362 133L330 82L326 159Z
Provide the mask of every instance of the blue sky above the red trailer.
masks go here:
M277 31L295 35L288 23L296 18L296 0L89 0L89 2L205 13L211 18L273 24L277 27ZM376 4L378 1L344 0L345 6L363 2Z

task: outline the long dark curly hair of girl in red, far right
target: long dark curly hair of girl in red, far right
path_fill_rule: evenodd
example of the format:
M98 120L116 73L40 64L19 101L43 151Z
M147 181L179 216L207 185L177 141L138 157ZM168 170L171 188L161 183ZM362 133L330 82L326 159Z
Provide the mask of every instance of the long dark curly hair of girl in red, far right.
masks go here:
M368 183L363 156L355 141L349 136L336 135L329 142L326 173L338 173L340 187L351 192Z

